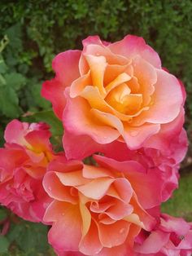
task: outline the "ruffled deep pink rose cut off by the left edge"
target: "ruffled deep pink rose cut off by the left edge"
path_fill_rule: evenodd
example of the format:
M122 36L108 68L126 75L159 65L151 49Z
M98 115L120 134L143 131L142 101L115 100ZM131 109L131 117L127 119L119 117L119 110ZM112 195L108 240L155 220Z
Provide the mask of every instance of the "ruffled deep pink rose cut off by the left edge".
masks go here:
M42 187L46 166L54 158L49 126L11 121L0 148L0 203L15 214L39 222L50 198Z

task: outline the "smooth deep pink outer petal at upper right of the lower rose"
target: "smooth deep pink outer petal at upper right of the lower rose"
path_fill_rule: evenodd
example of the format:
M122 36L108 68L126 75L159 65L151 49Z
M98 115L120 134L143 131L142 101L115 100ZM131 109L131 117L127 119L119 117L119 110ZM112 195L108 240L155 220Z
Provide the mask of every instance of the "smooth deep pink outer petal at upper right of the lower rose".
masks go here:
M122 172L136 192L138 201L145 209L152 208L162 202L161 193L164 180L159 170L149 169L146 173L143 166L137 161L116 161L97 155L94 156L94 159L100 166ZM138 180L142 180L142 183L138 183ZM129 195L128 192L126 194Z

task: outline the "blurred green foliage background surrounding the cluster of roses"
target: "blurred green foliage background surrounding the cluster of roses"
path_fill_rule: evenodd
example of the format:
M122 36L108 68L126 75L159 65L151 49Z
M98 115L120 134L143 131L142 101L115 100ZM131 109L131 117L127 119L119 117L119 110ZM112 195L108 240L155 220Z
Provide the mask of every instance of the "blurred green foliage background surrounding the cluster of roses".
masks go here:
M47 121L53 141L62 129L41 98L41 83L54 76L53 57L81 49L81 40L98 34L114 42L131 33L154 47L163 66L185 84L185 128L190 148L181 168L181 188L163 209L192 220L192 2L190 0L65 0L0 2L0 144L12 118ZM171 95L170 95L171 96ZM58 127L58 129L57 129ZM185 198L185 200L184 200ZM8 224L7 224L8 223ZM47 228L27 223L0 207L0 255L51 255ZM6 226L7 225L7 226ZM4 229L3 229L4 228Z

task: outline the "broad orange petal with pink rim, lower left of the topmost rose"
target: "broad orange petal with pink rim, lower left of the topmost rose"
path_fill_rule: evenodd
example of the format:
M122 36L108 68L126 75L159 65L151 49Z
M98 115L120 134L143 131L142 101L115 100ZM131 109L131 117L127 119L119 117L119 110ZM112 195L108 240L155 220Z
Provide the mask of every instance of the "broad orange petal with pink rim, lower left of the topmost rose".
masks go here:
M103 123L101 118L99 120L95 112L97 112L96 109L90 109L85 99L68 97L63 113L65 129L73 135L89 135L98 143L110 143L117 139L120 136L119 131ZM108 119L110 118L113 117Z

